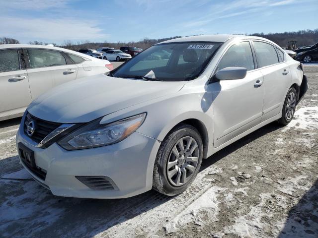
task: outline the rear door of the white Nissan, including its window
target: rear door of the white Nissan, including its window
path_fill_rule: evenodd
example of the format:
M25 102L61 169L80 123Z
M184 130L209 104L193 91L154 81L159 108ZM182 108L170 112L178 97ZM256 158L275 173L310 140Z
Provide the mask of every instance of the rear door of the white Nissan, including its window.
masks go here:
M264 76L264 106L262 121L281 112L287 90L291 86L291 73L279 49L262 41L253 41L257 66Z

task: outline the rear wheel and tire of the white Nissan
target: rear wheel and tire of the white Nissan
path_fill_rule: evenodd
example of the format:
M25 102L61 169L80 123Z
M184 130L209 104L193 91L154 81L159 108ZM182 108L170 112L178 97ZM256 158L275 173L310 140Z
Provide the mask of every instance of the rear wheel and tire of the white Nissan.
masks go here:
M294 87L288 90L285 98L285 102L282 109L282 117L278 122L282 125L287 125L294 117L295 109L297 103L297 92Z

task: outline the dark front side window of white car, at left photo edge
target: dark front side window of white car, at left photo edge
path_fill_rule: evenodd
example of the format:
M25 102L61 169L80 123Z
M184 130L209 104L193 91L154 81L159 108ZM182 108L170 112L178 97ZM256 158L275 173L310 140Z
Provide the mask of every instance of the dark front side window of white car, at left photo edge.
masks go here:
M17 49L0 51L0 72L20 70L19 55Z

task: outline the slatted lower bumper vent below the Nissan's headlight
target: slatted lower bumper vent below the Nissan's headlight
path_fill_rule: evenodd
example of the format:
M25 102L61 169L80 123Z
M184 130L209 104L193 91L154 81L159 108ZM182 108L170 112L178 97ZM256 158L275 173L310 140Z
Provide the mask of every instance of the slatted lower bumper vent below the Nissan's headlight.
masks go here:
M93 190L118 190L116 184L106 176L75 176Z

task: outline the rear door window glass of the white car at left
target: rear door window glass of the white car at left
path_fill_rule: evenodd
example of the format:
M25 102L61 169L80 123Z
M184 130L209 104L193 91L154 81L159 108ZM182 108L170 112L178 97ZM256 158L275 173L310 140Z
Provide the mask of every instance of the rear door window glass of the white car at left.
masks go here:
M31 68L65 65L64 56L58 51L27 49Z

